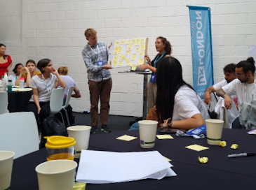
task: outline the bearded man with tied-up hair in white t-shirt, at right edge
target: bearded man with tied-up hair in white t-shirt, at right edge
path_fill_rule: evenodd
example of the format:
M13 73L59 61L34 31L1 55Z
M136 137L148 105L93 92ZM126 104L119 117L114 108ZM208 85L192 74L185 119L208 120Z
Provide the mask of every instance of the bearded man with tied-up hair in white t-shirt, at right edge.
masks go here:
M228 85L217 90L217 96L224 98L224 105L227 109L231 108L230 96L237 94L238 110L241 111L243 102L256 105L255 89L255 61L249 57L245 61L240 61L236 65L236 80L233 80Z

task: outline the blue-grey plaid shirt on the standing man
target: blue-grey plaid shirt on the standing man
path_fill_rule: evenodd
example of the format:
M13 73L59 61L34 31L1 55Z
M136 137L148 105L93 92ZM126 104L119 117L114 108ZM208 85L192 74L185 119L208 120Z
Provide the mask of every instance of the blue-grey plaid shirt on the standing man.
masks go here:
M83 48L82 55L87 68L88 80L100 82L111 78L111 73L108 69L97 66L97 61L103 61L103 64L107 65L109 50L105 43L97 43L95 47L87 44Z

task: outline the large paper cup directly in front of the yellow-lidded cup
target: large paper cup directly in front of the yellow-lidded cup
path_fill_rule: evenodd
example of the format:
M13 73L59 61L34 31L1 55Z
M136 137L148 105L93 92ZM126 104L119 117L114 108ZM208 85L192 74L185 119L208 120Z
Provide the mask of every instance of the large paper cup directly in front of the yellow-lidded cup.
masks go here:
M36 166L40 190L71 190L77 163L70 160L46 161Z

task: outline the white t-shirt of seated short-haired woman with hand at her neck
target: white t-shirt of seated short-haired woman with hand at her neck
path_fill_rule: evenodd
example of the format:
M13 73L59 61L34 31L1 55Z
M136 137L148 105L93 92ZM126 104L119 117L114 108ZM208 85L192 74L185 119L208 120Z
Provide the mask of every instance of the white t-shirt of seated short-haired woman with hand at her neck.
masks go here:
M45 81L39 78L39 75L32 77L29 87L32 89L37 89L39 94L39 102L50 101L50 94L55 89L55 82L58 78L50 73L50 78ZM33 96L29 101L34 101Z

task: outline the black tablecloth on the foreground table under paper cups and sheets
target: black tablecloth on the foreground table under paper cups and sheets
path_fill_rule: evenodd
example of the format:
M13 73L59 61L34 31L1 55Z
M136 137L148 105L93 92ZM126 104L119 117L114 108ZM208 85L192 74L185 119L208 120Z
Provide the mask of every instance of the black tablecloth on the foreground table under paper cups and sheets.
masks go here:
M137 136L130 142L116 140L123 134ZM158 150L163 156L172 160L176 177L162 180L140 180L116 184L87 184L90 189L253 189L256 180L256 156L227 159L228 154L256 152L256 136L246 134L241 129L224 129L222 140L227 147L210 146L206 139L196 140L190 137L174 136L173 140L158 140L153 149L140 147L138 131L122 131L90 136L89 149L111 152L138 152ZM239 145L238 149L230 149L231 144ZM203 145L210 149L196 152L186 149L187 145ZM198 162L198 156L208 156L208 163ZM46 161L46 149L27 154L13 163L11 189L38 189L35 168ZM76 160L78 161L78 160ZM104 158L102 158L104 161ZM100 172L100 171L99 171Z

